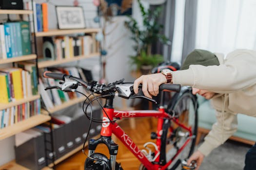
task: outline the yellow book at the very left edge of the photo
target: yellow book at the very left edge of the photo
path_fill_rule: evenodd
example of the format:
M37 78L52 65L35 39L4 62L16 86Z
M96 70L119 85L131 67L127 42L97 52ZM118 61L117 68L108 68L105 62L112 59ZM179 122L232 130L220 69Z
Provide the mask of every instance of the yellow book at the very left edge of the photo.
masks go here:
M0 73L0 103L8 103L8 78L6 73Z

